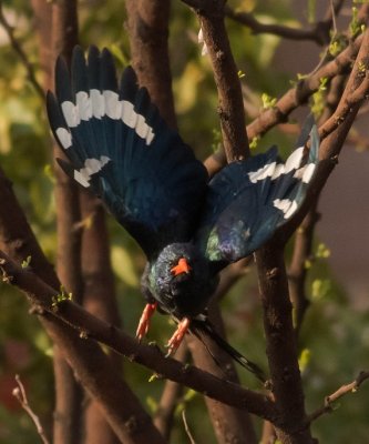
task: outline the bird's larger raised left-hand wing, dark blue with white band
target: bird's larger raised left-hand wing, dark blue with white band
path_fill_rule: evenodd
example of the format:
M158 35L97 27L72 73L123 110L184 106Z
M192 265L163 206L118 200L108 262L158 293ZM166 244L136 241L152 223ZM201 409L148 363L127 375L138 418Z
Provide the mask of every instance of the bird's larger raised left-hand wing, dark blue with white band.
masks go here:
M191 238L207 173L139 88L132 68L120 85L107 50L76 47L71 75L59 59L50 125L70 163L63 170L101 196L147 256Z

